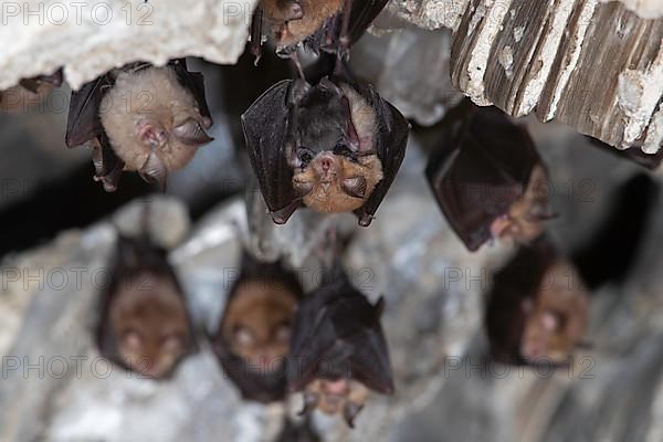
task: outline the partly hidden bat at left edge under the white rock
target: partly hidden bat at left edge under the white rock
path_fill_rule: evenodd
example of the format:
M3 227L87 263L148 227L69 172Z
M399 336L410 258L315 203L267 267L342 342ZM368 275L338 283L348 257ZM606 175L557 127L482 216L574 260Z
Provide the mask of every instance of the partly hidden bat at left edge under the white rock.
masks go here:
M0 112L25 110L30 105L42 102L61 84L62 70L57 70L51 75L23 78L18 85L0 91Z

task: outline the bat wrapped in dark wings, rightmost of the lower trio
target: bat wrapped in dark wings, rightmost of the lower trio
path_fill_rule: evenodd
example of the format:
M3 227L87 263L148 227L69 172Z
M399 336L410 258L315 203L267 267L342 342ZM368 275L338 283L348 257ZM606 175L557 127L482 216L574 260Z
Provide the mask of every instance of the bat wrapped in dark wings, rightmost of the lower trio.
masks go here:
M393 392L382 309L382 298L371 305L339 271L299 304L287 379L304 392L303 414L340 413L352 428L371 390Z

